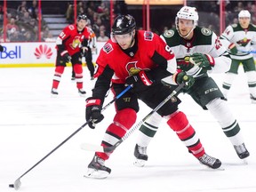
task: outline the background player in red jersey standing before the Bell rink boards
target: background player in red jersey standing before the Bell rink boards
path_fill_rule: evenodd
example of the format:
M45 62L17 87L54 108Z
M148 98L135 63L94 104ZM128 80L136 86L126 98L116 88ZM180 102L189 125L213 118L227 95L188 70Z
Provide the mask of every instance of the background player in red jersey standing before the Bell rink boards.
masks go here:
M58 95L58 86L64 68L71 62L76 74L76 87L81 96L85 95L83 89L83 68L81 53L87 47L90 31L86 28L87 17L78 15L76 24L68 25L62 30L56 40L57 59L55 73L52 81L52 95Z

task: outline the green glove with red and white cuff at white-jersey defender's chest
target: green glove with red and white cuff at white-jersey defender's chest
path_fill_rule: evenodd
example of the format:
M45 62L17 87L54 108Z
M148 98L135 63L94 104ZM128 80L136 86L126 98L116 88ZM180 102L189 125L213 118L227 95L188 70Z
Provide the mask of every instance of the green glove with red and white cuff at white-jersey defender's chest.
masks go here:
M199 52L192 54L189 62L193 63L199 68L206 68L207 70L211 70L215 65L215 60L211 55Z

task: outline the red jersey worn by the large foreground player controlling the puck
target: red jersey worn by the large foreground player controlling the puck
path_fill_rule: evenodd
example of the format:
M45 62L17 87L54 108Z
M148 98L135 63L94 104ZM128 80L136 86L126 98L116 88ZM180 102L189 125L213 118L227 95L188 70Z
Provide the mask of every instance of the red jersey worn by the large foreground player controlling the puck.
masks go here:
M139 30L136 35L138 50L131 56L109 39L100 50L100 55L96 60L98 69L94 76L100 76L104 68L108 66L115 72L112 82L124 84L127 77L136 75L140 70L150 70L163 64L163 62L166 64L167 60L175 60L171 49L155 33Z

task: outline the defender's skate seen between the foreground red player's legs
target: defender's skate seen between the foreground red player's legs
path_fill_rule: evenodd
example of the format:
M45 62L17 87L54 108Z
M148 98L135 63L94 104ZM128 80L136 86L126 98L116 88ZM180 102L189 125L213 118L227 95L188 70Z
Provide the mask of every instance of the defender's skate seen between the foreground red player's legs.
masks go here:
M133 164L135 166L145 166L146 161L148 161L147 147L140 147L139 145L136 144L134 148L134 156L135 161L133 162Z

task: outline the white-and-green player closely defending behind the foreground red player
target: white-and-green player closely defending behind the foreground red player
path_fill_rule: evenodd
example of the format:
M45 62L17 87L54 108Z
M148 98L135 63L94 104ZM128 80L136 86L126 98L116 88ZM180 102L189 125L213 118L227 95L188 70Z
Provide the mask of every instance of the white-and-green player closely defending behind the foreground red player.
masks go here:
M228 71L231 59L214 32L208 28L198 27L197 21L196 8L184 6L177 13L176 28L164 32L161 37L175 54L177 68L181 73L195 78L195 84L183 92L188 93L198 105L211 112L236 149L237 156L243 159L250 154L244 146L240 126L236 118L232 116L218 85L212 77L208 76L208 72L224 73ZM166 77L162 81L164 84L173 84L170 77ZM147 147L156 134L161 119L162 116L154 114L140 126L139 137L134 149L135 165L144 166L148 160Z

